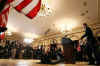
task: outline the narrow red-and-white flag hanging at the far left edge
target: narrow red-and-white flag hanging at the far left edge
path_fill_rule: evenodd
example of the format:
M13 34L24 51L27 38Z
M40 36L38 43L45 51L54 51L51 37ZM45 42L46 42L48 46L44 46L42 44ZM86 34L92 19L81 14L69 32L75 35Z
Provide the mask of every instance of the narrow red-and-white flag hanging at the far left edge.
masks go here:
M0 0L1 2L2 0ZM7 21L8 21L8 14L9 14L9 9L10 5L9 3L12 2L13 0L7 0L4 8L0 12L0 27L6 27ZM4 39L5 37L5 32L0 32L0 39Z

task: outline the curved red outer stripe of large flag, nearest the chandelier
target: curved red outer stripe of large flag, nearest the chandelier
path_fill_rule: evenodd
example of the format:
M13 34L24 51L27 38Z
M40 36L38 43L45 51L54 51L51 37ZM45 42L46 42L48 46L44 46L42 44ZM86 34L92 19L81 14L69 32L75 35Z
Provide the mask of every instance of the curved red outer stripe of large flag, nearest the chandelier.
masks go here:
M37 15L37 13L40 10L40 7L41 7L41 0L39 0L39 3L37 4L37 6L33 8L28 14L26 14L26 16L32 19L33 17Z

